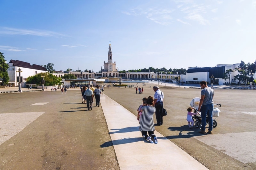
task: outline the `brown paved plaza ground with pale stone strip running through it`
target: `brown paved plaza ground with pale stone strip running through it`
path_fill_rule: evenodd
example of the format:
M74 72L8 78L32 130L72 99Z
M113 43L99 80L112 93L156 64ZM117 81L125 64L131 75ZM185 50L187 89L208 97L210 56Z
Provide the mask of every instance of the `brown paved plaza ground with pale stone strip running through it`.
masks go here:
M256 168L254 90L214 90L221 113L213 134L202 135L186 121L186 109L200 90L160 84L168 115L156 127L159 143L149 144L138 131L136 110L143 97L154 95L153 86L139 83L144 94L106 87L101 106L91 111L85 111L79 89L66 95L0 94L0 169Z

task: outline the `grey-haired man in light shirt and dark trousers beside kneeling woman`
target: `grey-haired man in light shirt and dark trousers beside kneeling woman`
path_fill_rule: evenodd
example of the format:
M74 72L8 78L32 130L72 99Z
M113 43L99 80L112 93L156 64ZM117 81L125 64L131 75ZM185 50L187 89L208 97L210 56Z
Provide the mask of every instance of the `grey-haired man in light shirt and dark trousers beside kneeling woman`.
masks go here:
M156 122L155 126L163 125L163 107L164 107L164 93L159 90L158 86L154 86L154 104L156 107Z

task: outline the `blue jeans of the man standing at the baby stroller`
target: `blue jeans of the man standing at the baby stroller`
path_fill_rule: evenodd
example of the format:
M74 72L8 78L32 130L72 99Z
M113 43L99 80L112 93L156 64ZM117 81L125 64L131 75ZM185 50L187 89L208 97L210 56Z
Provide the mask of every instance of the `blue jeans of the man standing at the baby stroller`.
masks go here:
M213 104L207 104L203 105L200 109L201 111L201 117L202 117L202 127L201 130L205 131L205 126L206 126L206 115L208 117L208 122L209 122L209 131L212 131L212 110L213 110Z

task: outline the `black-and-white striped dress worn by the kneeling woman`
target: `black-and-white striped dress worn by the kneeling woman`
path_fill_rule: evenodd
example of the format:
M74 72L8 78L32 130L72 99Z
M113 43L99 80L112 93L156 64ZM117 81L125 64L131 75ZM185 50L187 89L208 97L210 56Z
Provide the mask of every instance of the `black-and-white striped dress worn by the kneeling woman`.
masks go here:
M140 118L139 130L142 131L153 131L155 130L153 115L156 112L156 107L143 106L141 107L142 115Z

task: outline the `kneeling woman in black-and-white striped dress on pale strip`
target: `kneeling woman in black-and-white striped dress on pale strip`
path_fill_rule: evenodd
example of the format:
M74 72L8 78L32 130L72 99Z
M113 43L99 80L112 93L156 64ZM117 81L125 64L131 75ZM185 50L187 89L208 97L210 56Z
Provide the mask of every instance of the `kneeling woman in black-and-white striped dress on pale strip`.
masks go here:
M154 134L155 126L153 115L156 112L156 107L153 107L154 98L149 96L147 99L148 106L141 107L142 115L140 118L140 127L142 137L149 141L149 143L153 144L152 138L155 141L155 144L158 143L156 135Z

